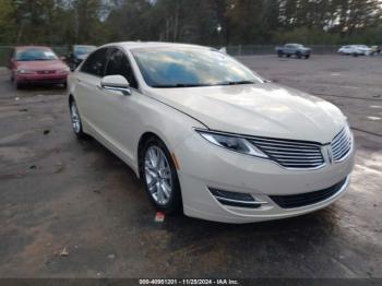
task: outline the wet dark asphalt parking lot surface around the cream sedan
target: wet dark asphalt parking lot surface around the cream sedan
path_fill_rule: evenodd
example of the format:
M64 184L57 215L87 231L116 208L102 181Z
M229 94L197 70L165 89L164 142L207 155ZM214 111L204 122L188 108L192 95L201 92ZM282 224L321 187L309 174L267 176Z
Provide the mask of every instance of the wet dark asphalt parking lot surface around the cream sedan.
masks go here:
M65 91L15 91L1 70L0 277L382 277L382 57L239 60L345 112L346 195L285 221L155 223L133 171L72 134Z

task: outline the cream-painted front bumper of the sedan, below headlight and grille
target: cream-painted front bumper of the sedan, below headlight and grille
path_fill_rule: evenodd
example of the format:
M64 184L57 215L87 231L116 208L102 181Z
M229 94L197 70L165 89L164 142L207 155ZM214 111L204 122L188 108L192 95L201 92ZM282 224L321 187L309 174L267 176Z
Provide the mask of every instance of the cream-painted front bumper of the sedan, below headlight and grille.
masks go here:
M354 150L341 163L327 163L314 170L290 170L268 159L215 146L194 134L175 150L180 165L178 174L184 214L223 223L252 223L320 210L345 193L354 166ZM270 198L323 190L344 179L333 195L309 205L283 208ZM216 200L208 188L249 193L264 204L256 208L225 205Z

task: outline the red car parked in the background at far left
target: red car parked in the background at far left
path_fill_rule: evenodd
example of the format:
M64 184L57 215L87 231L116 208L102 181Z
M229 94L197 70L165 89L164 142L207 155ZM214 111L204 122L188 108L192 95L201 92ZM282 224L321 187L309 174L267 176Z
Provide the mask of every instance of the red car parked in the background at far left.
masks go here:
M29 83L62 84L67 87L69 67L48 47L15 47L10 61L14 86Z

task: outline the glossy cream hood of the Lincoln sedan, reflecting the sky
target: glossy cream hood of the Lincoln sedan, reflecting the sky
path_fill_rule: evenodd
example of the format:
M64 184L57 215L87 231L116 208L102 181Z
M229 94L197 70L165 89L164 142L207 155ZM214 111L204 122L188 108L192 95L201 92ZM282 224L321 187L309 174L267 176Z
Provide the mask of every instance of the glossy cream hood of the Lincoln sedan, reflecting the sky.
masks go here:
M158 100L224 132L327 143L346 123L334 105L273 83L152 91Z

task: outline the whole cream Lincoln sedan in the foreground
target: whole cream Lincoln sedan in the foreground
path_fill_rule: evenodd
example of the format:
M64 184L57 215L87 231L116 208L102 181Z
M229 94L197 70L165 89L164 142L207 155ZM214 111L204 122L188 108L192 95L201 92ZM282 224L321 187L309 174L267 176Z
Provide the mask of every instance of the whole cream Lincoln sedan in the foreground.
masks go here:
M355 143L334 105L213 48L116 43L70 75L74 133L126 162L165 213L285 218L344 194Z

